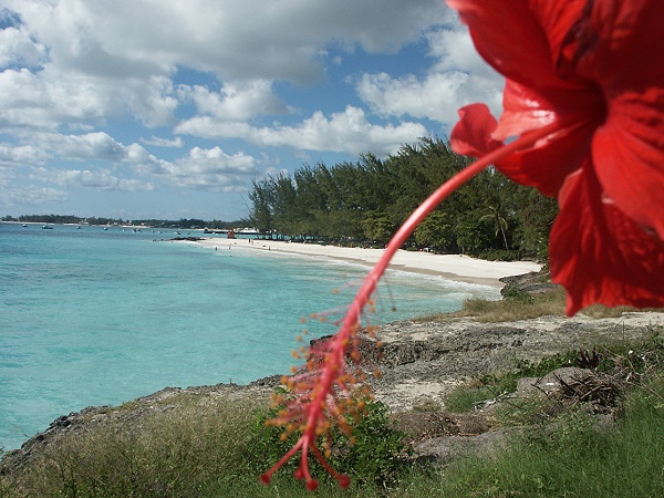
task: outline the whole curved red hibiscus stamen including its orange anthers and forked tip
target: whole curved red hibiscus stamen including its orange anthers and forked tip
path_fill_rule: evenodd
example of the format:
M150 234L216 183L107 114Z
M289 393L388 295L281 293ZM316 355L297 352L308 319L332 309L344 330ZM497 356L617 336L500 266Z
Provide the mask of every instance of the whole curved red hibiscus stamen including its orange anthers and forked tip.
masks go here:
M295 477L305 479L308 489L315 489L318 487L318 481L312 479L309 473L308 453L309 449L311 449L314 457L342 487L349 485L349 477L338 474L330 464L328 464L323 455L321 455L315 446L315 437L321 435L321 429L326 432L331 424L339 425L344 433L350 435L351 427L343 419L344 411L347 411L349 408L362 411L364 407L362 401L356 404L354 402L338 403L336 398L340 395L344 395L347 400L351 393L349 385L353 385L356 382L354 375L347 374L345 359L349 355L349 349L351 349L350 356L353 362L356 363L359 361L355 336L362 326L362 310L370 302L376 284L385 272L391 259L413 234L417 225L419 225L419 222L453 191L465 185L494 162L509 156L521 148L530 147L537 141L549 137L560 129L563 129L561 124L553 122L540 129L523 134L513 142L483 156L438 187L438 189L402 225L390 240L381 259L366 276L364 283L355 294L351 305L347 308L347 312L341 322L341 328L336 334L323 343L317 344L310 349L309 360L307 362L307 373L304 375L297 375L295 377L298 381L289 383L289 385L295 385L294 394L298 397L288 403L288 415L284 414L284 416L279 416L273 421L273 425L284 425L286 421L302 421L302 434L292 448L281 457L272 468L261 476L263 483L269 483L270 477L300 450L300 466L295 473ZM311 315L311 319L313 320L320 318L321 314L319 313L313 313ZM370 332L373 334L374 329L371 329ZM369 392L363 391L363 394L369 395ZM343 421L343 423L340 423L340 421Z

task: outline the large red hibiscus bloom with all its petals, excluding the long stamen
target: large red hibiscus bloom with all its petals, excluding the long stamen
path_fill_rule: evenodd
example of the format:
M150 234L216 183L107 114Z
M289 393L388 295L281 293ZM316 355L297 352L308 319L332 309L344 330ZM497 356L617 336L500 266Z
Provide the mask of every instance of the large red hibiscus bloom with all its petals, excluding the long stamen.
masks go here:
M664 305L664 2L447 3L507 79L500 121L481 104L463 108L453 148L483 156L553 126L495 165L558 197L549 260L568 314Z

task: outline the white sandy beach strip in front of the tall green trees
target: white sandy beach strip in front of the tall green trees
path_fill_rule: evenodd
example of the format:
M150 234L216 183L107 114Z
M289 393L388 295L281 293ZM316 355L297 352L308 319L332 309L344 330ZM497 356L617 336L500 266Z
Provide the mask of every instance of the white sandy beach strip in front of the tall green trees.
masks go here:
M206 247L238 247L241 249L271 250L293 255L317 256L373 266L383 255L383 249L347 248L319 243L298 243L277 240L210 238L199 242ZM438 274L459 282L479 283L502 288L498 279L530 271L539 271L540 264L530 261L485 261L460 255L434 255L400 250L390 268L416 273Z

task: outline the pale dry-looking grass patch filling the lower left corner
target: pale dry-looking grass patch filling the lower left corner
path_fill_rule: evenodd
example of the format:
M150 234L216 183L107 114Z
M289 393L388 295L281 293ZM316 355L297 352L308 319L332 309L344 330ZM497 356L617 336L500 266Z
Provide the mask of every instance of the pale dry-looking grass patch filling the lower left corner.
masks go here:
M14 470L7 496L199 497L259 489L248 464L256 403L199 403L174 398L168 409L153 407L139 425L65 434Z

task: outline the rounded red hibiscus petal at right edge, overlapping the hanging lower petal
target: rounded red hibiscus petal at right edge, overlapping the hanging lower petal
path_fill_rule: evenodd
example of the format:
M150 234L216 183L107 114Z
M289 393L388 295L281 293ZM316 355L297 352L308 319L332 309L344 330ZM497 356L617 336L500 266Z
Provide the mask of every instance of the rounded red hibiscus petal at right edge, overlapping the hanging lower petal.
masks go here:
M664 240L664 87L613 98L592 155L604 193Z

